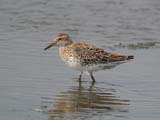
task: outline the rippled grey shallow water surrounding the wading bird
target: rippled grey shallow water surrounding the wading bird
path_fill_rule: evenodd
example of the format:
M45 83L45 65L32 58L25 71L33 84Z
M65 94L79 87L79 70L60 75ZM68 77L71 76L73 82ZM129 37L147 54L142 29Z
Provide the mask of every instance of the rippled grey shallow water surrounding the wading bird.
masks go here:
M159 6L159 0L1 0L0 119L159 120ZM85 75L79 83L56 48L43 51L59 32L135 60L95 73L95 84Z

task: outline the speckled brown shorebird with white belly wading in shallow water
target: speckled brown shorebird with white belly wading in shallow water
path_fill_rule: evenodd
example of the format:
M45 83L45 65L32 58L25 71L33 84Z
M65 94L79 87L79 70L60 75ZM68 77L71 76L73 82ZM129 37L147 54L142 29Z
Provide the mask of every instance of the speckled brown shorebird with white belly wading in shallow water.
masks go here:
M95 82L93 72L111 69L134 59L134 56L131 55L112 54L94 45L74 42L66 33L56 35L54 42L50 43L44 50L52 46L59 47L59 54L64 63L80 71L79 81L81 81L83 72L87 72Z

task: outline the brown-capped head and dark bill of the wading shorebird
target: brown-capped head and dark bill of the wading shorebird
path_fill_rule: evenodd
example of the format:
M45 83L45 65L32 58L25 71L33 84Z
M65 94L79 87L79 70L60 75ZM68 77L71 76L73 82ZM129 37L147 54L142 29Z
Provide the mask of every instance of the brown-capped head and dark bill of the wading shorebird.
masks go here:
M56 35L56 37L54 38L54 41L50 43L46 48L44 48L44 50L47 50L53 46L64 47L72 43L73 42L68 34L60 33Z

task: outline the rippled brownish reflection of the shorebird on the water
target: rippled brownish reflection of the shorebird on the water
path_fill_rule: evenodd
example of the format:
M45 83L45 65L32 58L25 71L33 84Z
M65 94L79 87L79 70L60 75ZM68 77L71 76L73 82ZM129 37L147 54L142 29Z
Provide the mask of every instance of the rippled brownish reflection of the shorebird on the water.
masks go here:
M54 107L48 108L49 120L66 115L86 115L88 112L128 112L129 100L116 97L115 89L89 86L72 86L68 91L56 96Z

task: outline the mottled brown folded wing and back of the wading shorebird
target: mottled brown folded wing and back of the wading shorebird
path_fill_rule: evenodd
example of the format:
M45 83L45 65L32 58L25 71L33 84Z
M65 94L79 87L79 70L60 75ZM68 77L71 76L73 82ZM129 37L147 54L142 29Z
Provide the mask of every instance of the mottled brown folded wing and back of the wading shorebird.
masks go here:
M117 62L127 59L127 56L111 54L104 51L104 49L97 48L93 45L88 45L85 43L74 44L74 51L76 52L76 57L79 57L83 65Z

